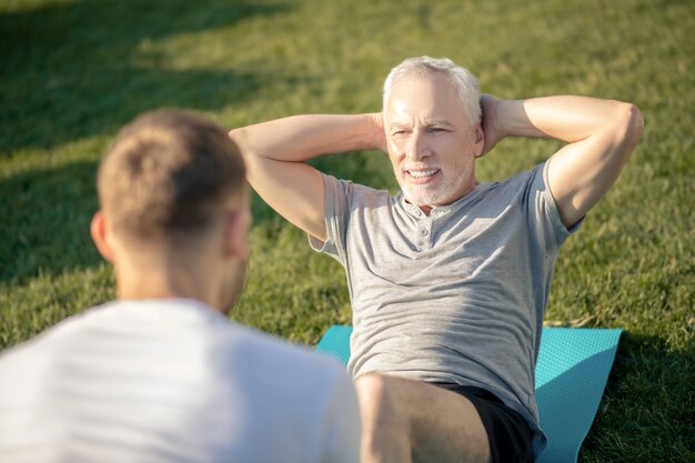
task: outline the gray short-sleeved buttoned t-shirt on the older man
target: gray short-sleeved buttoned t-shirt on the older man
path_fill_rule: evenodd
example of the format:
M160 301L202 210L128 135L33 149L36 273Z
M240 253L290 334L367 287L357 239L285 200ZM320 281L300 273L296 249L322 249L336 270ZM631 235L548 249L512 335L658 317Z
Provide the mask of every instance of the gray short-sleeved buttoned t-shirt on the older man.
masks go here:
M310 236L345 268L354 376L484 387L526 419L536 455L545 446L534 397L543 313L572 232L546 165L481 183L430 215L402 192L323 175L329 238Z

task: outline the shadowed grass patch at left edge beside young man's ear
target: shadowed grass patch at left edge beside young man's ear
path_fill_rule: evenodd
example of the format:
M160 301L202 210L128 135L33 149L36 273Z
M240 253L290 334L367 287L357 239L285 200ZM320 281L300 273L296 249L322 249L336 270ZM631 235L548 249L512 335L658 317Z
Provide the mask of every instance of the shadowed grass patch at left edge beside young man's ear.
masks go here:
M0 181L0 282L99 264L89 234L95 162L33 170Z

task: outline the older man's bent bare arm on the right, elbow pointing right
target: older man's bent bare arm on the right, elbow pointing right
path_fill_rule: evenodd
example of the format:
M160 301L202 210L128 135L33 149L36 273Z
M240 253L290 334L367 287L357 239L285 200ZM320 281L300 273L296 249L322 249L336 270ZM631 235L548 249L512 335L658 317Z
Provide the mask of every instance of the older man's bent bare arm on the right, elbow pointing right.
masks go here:
M550 190L565 227L582 219L615 183L644 121L629 103L585 97L497 100L483 97L487 152L504 137L567 142L550 160Z

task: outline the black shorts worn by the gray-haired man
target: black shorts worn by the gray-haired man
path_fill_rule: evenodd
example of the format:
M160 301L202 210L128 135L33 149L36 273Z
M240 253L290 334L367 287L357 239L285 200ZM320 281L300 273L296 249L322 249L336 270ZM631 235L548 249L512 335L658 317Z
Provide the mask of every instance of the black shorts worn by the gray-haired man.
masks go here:
M431 383L456 392L473 403L490 441L491 463L533 463L533 432L526 420L496 395L481 387Z

